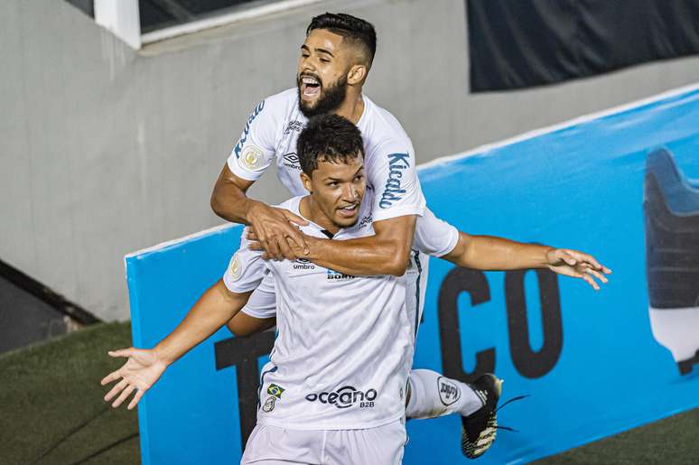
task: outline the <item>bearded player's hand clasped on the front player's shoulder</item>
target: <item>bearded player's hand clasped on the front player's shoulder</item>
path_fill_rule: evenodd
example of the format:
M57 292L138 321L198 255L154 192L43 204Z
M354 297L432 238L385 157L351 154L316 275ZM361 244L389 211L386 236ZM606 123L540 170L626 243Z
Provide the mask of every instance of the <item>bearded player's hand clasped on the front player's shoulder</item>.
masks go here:
M305 226L308 221L294 215L287 209L277 209L262 202L256 202L247 213L250 228L255 232L257 240L265 249L266 256L275 260L295 260L299 256L289 246L294 241L303 250L303 254L309 253L308 246L301 231L294 226Z

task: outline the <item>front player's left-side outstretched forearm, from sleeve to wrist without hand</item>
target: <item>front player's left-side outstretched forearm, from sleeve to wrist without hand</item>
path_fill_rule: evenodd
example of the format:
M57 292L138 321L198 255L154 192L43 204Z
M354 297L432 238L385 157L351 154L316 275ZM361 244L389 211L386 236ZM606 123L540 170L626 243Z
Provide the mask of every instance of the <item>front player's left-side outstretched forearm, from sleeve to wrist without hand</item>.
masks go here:
M219 330L243 308L249 293L229 293L219 281L212 285L191 308L184 320L154 350L166 365Z

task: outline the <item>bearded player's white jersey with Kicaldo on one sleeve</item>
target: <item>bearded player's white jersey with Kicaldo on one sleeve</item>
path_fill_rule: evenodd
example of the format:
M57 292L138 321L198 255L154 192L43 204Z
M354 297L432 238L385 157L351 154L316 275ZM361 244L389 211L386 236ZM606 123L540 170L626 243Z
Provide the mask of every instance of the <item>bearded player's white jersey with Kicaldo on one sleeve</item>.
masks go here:
M415 172L415 150L396 118L362 96L364 111L357 127L364 140L367 184L375 197L374 221L422 215L424 197ZM238 143L228 156L228 168L238 177L256 181L272 164L292 195L304 195L296 141L308 118L299 109L296 88L266 98L247 118Z

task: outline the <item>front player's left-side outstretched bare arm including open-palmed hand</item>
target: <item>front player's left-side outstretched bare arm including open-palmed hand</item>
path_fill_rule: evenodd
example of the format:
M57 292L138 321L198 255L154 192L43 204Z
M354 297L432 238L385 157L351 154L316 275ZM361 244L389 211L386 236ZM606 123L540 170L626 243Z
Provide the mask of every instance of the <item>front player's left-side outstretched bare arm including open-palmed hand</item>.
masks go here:
M110 351L110 357L128 359L123 367L102 379L102 386L118 380L105 395L105 401L110 402L118 395L112 402L112 406L116 408L135 391L127 407L133 409L167 367L226 324L245 306L249 296L249 292L231 293L219 280L200 297L177 328L153 349L132 347Z

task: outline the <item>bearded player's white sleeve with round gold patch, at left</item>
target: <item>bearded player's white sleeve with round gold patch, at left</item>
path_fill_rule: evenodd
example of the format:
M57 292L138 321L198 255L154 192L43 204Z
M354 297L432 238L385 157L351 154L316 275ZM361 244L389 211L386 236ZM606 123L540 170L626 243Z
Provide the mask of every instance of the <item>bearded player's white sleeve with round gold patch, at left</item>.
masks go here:
M255 107L228 155L228 169L247 181L257 181L275 159L277 129L274 108L263 100Z

